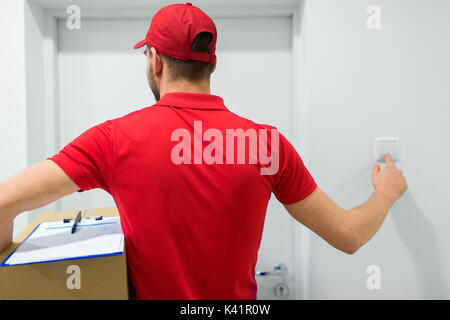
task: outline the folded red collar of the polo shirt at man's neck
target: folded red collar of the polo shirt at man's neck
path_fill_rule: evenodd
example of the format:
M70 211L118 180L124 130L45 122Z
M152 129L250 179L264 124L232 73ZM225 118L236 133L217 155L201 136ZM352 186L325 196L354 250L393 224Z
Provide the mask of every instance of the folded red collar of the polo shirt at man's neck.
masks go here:
M228 111L221 97L205 93L169 92L164 94L164 96L155 105L176 108Z

